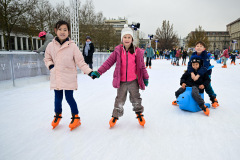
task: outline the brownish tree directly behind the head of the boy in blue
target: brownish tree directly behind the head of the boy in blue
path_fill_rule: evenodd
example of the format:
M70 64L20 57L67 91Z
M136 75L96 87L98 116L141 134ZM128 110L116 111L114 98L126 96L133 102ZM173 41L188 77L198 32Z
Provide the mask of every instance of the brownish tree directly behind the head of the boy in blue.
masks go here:
M203 41L206 44L206 48L209 47L209 40L206 32L202 29L201 26L195 29L194 32L191 32L188 41L188 47L195 47L197 41Z

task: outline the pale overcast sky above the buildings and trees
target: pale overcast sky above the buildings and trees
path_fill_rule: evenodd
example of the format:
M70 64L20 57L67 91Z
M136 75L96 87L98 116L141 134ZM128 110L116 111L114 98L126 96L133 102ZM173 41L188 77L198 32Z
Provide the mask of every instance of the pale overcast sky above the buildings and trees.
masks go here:
M61 0L49 0L52 4ZM226 31L226 25L240 18L240 0L92 0L95 12L104 17L126 17L139 22L140 30L155 34L163 20L173 24L179 36L186 37L199 25L205 31ZM64 1L69 6L69 0ZM86 0L81 0L85 3Z

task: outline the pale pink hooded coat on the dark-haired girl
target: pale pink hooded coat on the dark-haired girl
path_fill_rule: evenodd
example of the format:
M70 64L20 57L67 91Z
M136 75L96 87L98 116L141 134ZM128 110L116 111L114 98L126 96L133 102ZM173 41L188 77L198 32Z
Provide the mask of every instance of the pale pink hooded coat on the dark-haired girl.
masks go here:
M50 89L77 90L77 67L86 74L92 70L85 63L77 45L69 40L60 45L55 39L50 42L45 51L44 62L50 70Z

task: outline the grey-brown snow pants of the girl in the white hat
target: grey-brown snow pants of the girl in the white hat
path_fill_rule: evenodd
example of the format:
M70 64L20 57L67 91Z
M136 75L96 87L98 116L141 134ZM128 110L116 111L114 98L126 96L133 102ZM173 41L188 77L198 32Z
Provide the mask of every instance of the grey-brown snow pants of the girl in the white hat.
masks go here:
M123 106L126 102L127 92L130 93L130 102L133 105L133 111L142 113L144 108L142 106L142 98L139 93L139 85L137 80L131 82L121 82L120 88L117 90L117 97L115 99L112 116L121 117L123 115Z

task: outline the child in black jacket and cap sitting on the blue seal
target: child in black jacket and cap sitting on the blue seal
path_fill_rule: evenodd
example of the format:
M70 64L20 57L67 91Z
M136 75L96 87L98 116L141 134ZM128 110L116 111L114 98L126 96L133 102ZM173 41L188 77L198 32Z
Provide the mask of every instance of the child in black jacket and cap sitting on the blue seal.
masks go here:
M193 74L197 75L199 69L201 68L202 62L200 58L193 57L190 61L192 68L193 68ZM207 73L202 75L201 77L198 78L198 80L194 81L192 79L191 73L185 72L182 75L180 85L182 86L179 88L176 92L176 98L183 92L185 92L186 87L192 87L192 97L193 99L198 103L199 107L203 110L204 114L209 116L209 109L204 105L205 102L202 99L202 97L199 95L199 93L204 92L204 88L207 88L208 85L210 84L210 78ZM176 101L172 102L173 105L177 105Z

